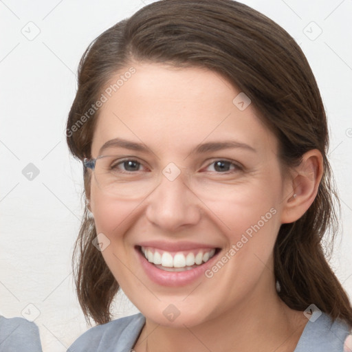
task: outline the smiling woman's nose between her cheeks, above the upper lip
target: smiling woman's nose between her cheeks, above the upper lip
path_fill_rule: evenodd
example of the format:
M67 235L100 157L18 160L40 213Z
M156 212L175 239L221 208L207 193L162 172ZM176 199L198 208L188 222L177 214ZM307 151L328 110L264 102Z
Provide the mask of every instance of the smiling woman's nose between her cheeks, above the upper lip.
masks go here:
M171 181L162 175L159 186L146 199L146 217L164 232L195 225L201 217L201 201L182 175Z

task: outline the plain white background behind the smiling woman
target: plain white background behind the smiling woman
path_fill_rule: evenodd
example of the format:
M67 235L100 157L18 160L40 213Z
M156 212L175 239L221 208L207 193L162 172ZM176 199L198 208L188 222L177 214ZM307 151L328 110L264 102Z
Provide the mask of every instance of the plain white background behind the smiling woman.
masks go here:
M83 209L82 167L65 144L78 61L96 36L149 2L0 1L0 314L22 316L28 304L34 305L30 311L39 314L35 322L45 352L66 351L88 328L71 267ZM343 231L331 266L351 298L352 1L243 2L296 39L318 81L342 203ZM22 32L35 34L36 27L39 35L28 40ZM39 169L32 181L22 173L29 163ZM135 312L120 294L115 317Z

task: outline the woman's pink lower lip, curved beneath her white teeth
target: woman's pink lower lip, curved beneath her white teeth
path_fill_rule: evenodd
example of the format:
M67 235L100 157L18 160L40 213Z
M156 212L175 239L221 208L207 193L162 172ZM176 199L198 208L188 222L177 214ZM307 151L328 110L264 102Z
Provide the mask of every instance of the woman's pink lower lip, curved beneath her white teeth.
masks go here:
M206 263L203 263L199 267L194 267L191 270L185 270L184 272L166 272L165 270L155 267L154 264L149 263L144 254L140 251L140 248L135 248L135 250L137 251L140 263L144 268L144 272L146 272L146 276L158 285L169 287L186 286L196 281L204 275L206 270L212 267L219 254L219 252L216 253Z

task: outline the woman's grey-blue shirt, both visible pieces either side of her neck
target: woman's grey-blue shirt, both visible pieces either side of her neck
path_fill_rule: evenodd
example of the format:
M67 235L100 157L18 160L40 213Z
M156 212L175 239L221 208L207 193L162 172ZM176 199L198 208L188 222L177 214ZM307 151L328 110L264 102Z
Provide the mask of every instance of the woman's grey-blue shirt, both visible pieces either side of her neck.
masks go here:
M341 320L331 325L322 313L315 322L307 322L294 352L343 352L349 326ZM145 323L141 313L92 327L69 347L67 352L129 352Z

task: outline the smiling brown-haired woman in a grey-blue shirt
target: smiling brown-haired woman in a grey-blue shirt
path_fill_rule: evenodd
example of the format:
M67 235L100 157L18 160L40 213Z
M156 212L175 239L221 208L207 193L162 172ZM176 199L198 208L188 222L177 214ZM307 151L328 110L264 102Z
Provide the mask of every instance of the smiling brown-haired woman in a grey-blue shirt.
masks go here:
M236 1L147 5L83 55L67 142L98 323L69 351L342 351L326 115L283 28ZM110 322L119 287L141 313Z

